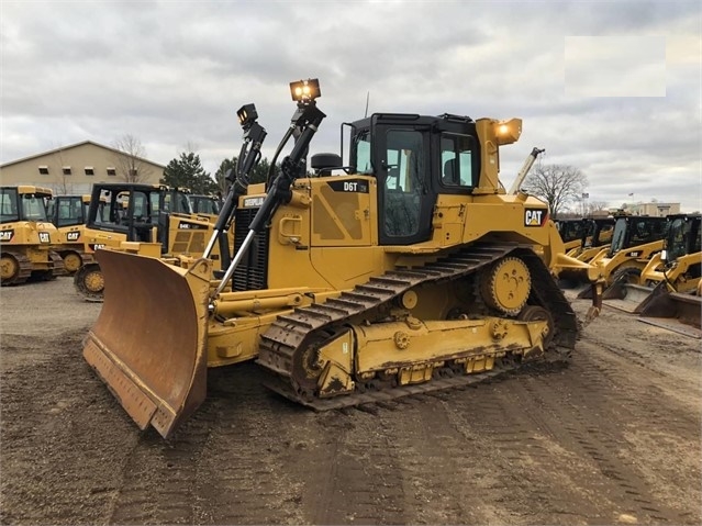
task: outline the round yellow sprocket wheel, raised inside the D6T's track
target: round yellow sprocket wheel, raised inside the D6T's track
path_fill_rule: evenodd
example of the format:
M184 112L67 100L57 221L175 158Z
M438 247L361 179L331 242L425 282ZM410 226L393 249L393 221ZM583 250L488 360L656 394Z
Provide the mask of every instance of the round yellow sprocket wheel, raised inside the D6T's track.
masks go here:
M528 267L516 257L502 258L480 275L480 295L486 304L511 316L524 307L531 290Z

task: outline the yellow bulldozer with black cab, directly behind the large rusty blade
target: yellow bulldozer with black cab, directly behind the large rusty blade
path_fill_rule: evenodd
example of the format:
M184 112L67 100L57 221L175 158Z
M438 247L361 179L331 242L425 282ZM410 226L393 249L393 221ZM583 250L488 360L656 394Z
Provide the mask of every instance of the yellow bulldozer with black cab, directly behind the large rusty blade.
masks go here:
M212 233L205 216L193 214L189 192L161 184L96 183L82 234L85 253L119 249L174 258L199 256ZM224 248L224 253L220 248ZM229 264L229 244L211 255L215 268ZM86 260L74 276L74 286L85 300L101 302L104 278L97 260Z

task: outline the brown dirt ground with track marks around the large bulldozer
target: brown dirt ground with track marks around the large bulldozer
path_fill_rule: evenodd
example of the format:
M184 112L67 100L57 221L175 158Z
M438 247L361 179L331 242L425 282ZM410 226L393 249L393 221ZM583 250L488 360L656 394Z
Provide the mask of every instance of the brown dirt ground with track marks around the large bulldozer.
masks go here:
M702 524L700 340L633 315L606 309L568 367L361 409L212 370L164 440L83 361L100 304L70 278L0 302L2 524Z

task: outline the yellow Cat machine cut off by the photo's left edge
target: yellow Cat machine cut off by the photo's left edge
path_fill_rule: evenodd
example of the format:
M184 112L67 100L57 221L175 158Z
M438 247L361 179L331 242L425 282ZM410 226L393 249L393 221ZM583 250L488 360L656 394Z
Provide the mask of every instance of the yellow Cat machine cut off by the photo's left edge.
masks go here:
M53 192L33 186L0 187L0 283L49 280L65 273L53 249L58 231L47 216Z

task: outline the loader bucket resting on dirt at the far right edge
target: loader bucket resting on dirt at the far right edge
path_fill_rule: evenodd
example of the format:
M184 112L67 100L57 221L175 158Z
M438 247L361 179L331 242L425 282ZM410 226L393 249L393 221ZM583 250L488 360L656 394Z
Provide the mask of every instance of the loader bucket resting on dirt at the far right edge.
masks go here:
M636 312L644 323L702 337L702 296L670 292L666 283L660 282Z

